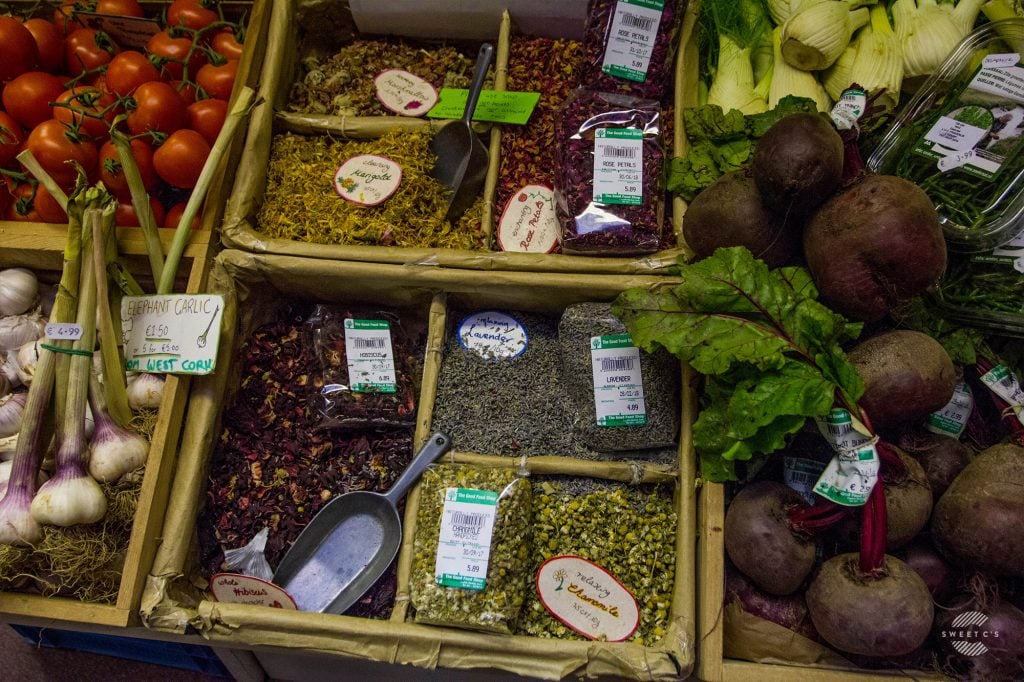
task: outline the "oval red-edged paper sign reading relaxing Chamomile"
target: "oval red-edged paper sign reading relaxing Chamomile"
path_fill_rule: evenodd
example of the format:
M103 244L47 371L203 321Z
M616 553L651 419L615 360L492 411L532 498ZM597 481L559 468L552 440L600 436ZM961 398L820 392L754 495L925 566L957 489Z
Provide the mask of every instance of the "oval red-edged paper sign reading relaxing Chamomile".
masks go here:
M537 571L551 614L590 639L621 642L640 625L636 599L614 576L579 556L556 556Z

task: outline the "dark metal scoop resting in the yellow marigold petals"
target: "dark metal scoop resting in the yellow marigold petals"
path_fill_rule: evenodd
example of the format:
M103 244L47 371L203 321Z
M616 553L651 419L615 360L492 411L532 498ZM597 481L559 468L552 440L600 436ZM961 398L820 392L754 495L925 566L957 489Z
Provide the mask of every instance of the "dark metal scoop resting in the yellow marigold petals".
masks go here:
M473 132L471 122L494 53L490 43L480 45L462 119L445 125L430 141L430 150L437 157L431 175L451 190L447 213L444 214L444 219L450 222L459 219L472 206L487 175L487 147Z

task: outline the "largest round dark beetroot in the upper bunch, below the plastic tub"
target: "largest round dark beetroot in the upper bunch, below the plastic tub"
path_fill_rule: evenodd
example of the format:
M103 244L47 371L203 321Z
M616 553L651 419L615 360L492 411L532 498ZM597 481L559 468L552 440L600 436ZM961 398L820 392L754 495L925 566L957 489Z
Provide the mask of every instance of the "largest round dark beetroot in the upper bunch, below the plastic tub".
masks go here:
M804 256L833 309L878 322L938 282L946 243L924 190L899 177L867 175L814 212Z

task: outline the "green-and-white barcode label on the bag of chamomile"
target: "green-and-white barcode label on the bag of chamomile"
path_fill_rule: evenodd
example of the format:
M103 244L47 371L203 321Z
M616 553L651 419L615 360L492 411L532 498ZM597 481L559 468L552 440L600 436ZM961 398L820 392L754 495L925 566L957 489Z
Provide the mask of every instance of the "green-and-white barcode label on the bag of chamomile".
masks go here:
M498 494L450 487L444 492L434 580L443 587L482 590L487 586L490 535Z

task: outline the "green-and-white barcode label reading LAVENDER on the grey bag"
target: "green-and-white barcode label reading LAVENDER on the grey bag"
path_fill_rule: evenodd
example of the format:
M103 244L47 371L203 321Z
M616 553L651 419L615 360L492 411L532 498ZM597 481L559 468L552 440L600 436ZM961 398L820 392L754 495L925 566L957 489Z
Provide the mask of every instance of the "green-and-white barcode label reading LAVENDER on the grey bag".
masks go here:
M594 369L594 406L598 426L643 426L647 407L640 375L640 349L629 334L590 339Z

